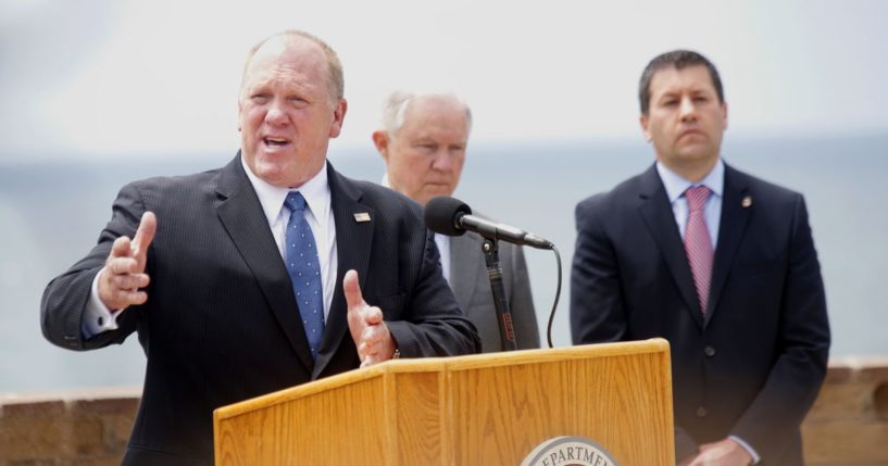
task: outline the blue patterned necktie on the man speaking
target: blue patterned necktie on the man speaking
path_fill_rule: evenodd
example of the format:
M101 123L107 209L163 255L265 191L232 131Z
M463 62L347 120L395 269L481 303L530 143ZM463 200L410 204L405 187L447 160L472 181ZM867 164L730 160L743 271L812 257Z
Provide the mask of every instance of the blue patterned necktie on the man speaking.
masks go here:
M296 293L296 304L305 327L305 337L312 350L312 358L317 358L321 337L324 335L324 293L321 287L321 264L317 262L317 247L314 235L305 221L305 198L290 191L284 205L290 210L287 223L287 272Z

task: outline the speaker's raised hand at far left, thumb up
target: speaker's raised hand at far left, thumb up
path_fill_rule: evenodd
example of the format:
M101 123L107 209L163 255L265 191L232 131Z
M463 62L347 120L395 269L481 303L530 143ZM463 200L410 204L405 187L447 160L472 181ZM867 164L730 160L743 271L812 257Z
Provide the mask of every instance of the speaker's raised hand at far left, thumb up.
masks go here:
M147 287L150 281L145 265L148 247L157 230L158 218L146 212L132 241L125 236L114 240L98 285L99 299L109 310L123 310L148 301L148 293L139 288Z

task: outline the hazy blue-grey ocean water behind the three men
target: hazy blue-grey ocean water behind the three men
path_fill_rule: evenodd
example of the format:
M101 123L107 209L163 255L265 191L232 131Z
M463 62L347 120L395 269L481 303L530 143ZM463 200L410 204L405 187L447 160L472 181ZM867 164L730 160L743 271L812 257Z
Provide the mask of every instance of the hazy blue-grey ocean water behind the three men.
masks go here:
M234 153L183 154L175 162L121 156L116 163L28 163L22 154L0 164L0 392L141 383L145 356L135 337L87 353L48 343L39 327L43 288L91 248L125 182L214 168ZM723 148L727 163L805 196L826 284L833 356L888 354L887 154L888 134L728 138ZM334 147L329 159L353 178L378 180L383 174L372 148ZM470 146L454 196L546 237L561 252L555 347L571 344L574 206L651 163L651 150L640 141ZM545 341L558 266L551 252L525 251Z

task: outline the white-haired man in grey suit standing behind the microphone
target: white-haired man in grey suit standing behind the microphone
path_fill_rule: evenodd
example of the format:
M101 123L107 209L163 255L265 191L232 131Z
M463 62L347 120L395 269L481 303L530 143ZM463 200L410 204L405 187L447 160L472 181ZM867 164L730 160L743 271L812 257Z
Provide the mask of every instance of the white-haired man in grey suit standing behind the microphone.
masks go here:
M396 91L386 99L383 129L373 142L386 163L385 184L425 205L436 196L452 196L460 182L472 112L448 93ZM479 235L435 234L443 274L465 315L475 324L485 352L502 350L493 293L487 279ZM539 329L524 250L498 243L503 288L518 349L539 348Z

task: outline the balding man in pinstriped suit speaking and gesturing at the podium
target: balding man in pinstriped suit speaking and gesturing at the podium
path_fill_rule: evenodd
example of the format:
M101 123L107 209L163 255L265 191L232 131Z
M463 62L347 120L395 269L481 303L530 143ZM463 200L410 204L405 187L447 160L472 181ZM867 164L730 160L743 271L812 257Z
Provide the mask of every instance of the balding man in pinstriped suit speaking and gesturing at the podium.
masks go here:
M125 465L212 464L218 406L399 355L479 351L418 205L327 163L342 89L320 39L260 42L235 159L124 187L98 245L47 287L53 343L138 332L148 365Z

